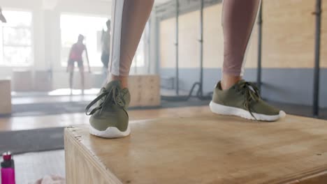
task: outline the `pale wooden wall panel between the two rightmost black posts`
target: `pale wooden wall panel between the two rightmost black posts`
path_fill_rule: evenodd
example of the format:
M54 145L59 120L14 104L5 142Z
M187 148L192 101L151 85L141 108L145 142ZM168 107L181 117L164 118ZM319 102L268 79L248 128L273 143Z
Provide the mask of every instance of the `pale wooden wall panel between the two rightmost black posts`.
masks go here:
M315 1L263 1L263 67L314 66Z

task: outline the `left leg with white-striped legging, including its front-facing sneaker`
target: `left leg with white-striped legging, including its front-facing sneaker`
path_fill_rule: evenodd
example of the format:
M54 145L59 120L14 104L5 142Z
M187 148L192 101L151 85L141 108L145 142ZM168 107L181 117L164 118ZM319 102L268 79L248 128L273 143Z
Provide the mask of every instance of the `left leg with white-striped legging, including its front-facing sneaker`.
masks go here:
M154 0L113 0L110 66L111 82L86 107L92 115L89 132L106 138L125 137L131 132L127 107L131 101L127 77ZM96 105L94 109L89 109Z

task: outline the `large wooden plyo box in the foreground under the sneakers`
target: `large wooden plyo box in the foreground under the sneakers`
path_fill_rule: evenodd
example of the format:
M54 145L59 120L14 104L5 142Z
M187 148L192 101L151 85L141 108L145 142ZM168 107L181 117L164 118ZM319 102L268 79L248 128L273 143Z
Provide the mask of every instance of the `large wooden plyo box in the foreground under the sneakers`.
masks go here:
M327 122L216 116L131 123L122 139L65 130L66 183L327 183Z

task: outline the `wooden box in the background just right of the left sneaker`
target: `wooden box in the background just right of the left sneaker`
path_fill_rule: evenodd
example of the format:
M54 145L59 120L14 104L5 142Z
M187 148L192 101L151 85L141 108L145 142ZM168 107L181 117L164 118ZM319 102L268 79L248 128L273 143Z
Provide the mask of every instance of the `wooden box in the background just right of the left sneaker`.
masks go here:
M129 76L130 107L157 107L161 103L159 75Z

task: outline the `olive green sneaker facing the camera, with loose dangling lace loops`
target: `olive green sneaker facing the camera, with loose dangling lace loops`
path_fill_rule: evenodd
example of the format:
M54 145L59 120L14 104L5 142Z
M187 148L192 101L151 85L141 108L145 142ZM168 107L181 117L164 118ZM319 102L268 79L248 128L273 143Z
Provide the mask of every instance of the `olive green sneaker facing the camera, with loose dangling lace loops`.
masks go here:
M92 115L89 133L104 138L128 136L131 130L126 108L130 101L129 89L122 89L119 81L109 82L85 109L87 115ZM93 105L96 107L89 112Z

